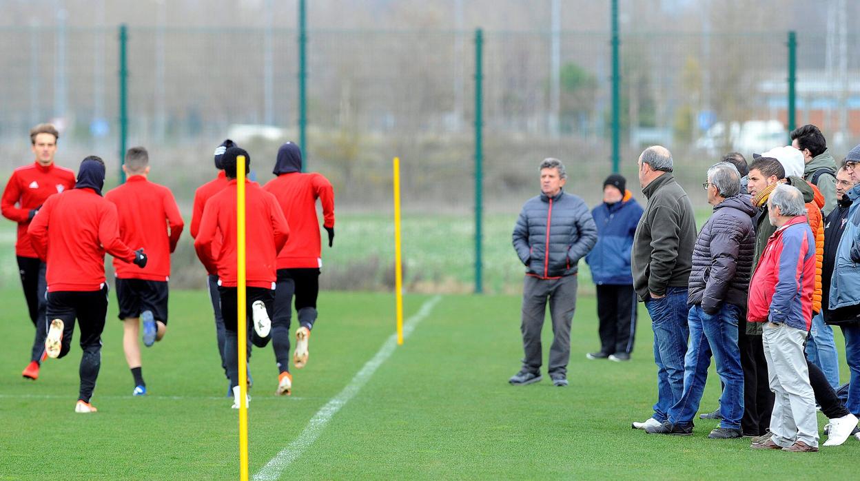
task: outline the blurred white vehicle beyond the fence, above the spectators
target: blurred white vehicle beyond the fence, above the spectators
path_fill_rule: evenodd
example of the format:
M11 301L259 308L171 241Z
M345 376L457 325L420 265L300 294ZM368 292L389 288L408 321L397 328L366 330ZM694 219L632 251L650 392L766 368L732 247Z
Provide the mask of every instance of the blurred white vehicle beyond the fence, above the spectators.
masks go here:
M710 156L738 151L744 157L787 145L789 132L779 120L747 120L744 123L716 122L696 140L695 147Z

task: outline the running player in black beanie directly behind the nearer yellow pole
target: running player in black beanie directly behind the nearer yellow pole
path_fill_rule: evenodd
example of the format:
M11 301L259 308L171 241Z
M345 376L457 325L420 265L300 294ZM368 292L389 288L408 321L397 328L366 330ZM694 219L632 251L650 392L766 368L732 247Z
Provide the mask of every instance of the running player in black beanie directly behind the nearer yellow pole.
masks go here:
M194 240L194 250L200 262L209 272L218 273L218 294L221 299L221 315L224 316L224 355L230 388L233 391L233 407L239 407L239 373L237 345L237 157L245 156L245 165L250 169L248 152L239 147L224 151L222 163L229 180L227 187L206 202L200 218L200 231ZM256 182L245 181L246 239L247 239L247 285L246 295L251 305L249 320L254 324L252 342L264 347L269 341L271 312L273 311L275 286L275 259L286 244L290 228L272 194L264 191ZM212 253L212 244L220 240L220 250ZM245 321L243 319L243 321ZM292 378L289 373L279 376L278 393L289 394Z

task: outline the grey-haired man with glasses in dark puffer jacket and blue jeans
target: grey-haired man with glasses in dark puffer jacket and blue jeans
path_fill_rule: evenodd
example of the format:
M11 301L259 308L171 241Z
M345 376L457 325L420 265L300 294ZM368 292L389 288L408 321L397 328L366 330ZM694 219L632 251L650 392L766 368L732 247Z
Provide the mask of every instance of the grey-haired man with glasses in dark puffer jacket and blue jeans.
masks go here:
M755 231L753 207L740 194L740 173L728 162L708 170L708 203L714 213L702 227L693 248L687 303L690 347L684 360L684 390L660 427L646 432L687 435L699 408L713 354L725 387L720 398L722 421L711 439L739 438L744 414L744 375L740 367L738 323L746 318L746 294L753 271Z

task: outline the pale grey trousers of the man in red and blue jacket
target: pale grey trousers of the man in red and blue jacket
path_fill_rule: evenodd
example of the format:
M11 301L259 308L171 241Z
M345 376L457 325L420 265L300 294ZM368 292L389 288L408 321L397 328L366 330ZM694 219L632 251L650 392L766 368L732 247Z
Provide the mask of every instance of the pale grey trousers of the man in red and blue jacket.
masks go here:
M768 379L775 395L771 414L771 438L777 446L789 447L796 441L818 447L818 418L815 395L809 385L809 371L803 342L808 333L785 324L765 323Z

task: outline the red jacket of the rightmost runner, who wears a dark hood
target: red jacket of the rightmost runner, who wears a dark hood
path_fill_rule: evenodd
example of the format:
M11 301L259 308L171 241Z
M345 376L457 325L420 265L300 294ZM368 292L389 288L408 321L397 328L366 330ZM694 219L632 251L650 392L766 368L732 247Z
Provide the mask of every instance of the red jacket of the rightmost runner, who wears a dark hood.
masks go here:
M322 204L323 223L335 226L335 191L321 174L281 174L264 187L278 199L292 235L278 253L278 268L321 268L320 225L316 199Z

